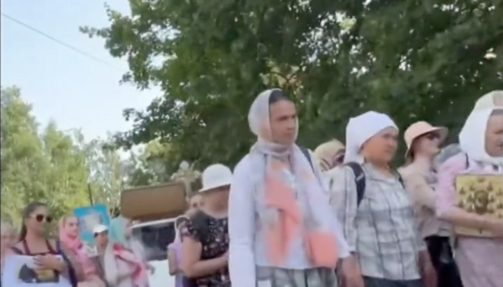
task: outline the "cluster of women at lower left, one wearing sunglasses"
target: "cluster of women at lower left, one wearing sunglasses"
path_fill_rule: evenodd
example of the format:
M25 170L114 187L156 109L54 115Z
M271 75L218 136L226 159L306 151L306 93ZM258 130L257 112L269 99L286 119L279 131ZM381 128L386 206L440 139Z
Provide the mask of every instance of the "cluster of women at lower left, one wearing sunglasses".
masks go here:
M154 270L147 263L142 244L131 236L131 221L128 219L119 216L112 219L109 226L94 227L97 254L92 256L89 246L80 240L75 216L60 219L59 240L45 235L46 223L52 222L52 217L44 203L27 205L22 216L19 234L10 224L1 223L2 286L16 287L12 284L18 280L22 284L44 283L40 276L43 272L50 272L50 276L44 276L48 280L61 275L68 283L61 285L65 287L149 286L147 273ZM8 269L4 259L9 254L34 256L35 276Z

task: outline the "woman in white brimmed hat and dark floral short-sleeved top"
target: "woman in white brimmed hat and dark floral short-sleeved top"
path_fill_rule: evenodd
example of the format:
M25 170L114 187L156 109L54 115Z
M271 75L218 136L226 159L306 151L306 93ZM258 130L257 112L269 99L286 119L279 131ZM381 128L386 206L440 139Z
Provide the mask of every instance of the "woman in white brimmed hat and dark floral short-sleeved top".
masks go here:
M232 172L226 165L214 164L203 171L199 191L204 205L184 223L182 270L189 286L228 287L228 192Z

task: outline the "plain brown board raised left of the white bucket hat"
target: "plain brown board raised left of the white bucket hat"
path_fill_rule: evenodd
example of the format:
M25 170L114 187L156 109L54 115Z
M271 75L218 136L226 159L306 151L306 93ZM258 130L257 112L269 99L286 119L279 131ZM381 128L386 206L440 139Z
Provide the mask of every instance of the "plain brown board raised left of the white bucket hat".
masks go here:
M121 212L129 219L150 221L176 217L187 210L182 182L141 186L121 193Z

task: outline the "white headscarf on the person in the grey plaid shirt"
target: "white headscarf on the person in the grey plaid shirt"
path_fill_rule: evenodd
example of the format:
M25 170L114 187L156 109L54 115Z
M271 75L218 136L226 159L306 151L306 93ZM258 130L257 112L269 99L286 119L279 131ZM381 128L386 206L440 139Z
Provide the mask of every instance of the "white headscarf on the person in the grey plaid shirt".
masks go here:
M398 129L393 119L381 112L365 112L358 117L351 117L346 126L346 155L344 163L358 161L362 145L384 128Z

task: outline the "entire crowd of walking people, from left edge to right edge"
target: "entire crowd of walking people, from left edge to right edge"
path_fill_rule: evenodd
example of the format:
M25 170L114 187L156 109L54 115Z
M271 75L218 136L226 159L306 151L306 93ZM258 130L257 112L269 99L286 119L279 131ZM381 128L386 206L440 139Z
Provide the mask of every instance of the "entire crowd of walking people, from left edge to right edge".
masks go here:
M203 188L175 221L166 266L175 287L503 286L503 91L475 103L458 144L441 149L449 133L442 126L409 126L400 168L392 165L398 127L380 112L349 119L345 144L314 152L296 145L296 107L281 90L259 94L248 119L257 136L249 153L233 171L207 167ZM485 203L461 198L459 179L470 176L495 180L469 186ZM131 221L96 226L93 262L73 216L61 219L59 241L45 239L48 214L29 205L19 239L2 223L2 258L59 254L63 261L37 256L36 264L72 286L148 286L154 270Z

